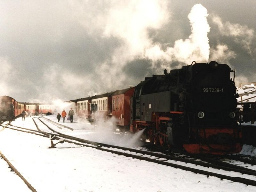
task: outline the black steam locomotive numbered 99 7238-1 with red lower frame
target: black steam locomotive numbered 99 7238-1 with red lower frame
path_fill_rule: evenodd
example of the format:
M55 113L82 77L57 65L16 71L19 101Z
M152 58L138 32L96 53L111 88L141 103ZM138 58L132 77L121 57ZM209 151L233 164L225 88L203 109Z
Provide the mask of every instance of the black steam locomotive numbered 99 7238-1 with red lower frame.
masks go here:
M196 63L146 77L131 98L131 126L152 143L189 153L228 154L242 149L236 87L228 65ZM234 72L235 73L235 72Z

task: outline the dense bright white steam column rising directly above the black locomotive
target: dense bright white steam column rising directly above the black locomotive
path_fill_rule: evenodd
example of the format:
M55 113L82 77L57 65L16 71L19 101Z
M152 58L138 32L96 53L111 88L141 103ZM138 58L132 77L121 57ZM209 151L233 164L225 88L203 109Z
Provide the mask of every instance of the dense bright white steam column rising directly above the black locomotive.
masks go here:
M188 39L175 41L174 47L168 47L165 52L161 50L161 45L155 45L146 50L146 56L152 60L164 59L183 63L193 60L207 62L210 53L207 36L210 32L210 26L207 22L207 16L207 9L203 5L194 5L188 14L191 26L191 35ZM168 66L162 67L168 68Z

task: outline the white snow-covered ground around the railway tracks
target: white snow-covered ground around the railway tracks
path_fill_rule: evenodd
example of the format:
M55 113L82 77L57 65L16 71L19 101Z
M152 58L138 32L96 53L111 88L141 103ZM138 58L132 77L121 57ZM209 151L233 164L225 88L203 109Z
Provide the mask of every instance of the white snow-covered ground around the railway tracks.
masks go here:
M57 122L55 116L47 118ZM98 135L99 140L110 139L108 132L95 134L99 129L97 126L95 128L93 125L76 121L73 124L67 121L60 123L74 128L74 131L69 129L62 131L80 134L83 138L95 138L95 135ZM12 124L35 129L32 117L26 118L25 121L18 118ZM125 141L127 142L128 140ZM90 147L66 142L57 144L57 148L48 148L50 145L49 138L8 128L0 131L0 151L38 192L256 191L256 187L242 183L118 156ZM133 139L129 145L138 145L138 143ZM256 150L252 146L244 146L241 153L255 156ZM1 158L0 191L30 191Z

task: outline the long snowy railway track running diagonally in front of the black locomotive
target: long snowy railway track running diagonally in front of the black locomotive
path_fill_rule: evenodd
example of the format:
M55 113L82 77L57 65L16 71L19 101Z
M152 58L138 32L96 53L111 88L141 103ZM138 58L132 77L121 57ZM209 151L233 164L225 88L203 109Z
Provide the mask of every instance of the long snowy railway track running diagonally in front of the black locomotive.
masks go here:
M166 166L170 166L170 167L174 167L174 168L178 168L186 171L191 171L194 173L218 177L221 180L226 179L226 180L231 180L233 182L240 182L246 185L256 186L256 171L252 169L248 169L248 168L244 168L244 167L240 167L240 166L236 166L228 163L223 163L223 162L220 163L221 161L214 160L214 159L211 159L211 161L207 159L206 161L205 159L201 159L202 158L201 156L198 157L200 160L195 158L183 158L183 157L178 157L173 155L166 155L162 153L149 152L149 151L119 147L119 146L84 140L81 138L63 134L61 132L57 132L56 130L52 129L49 126L49 124L51 124L51 122L49 121L48 123L45 123L44 120L40 120L40 122L42 122L46 127L48 127L49 130L51 130L51 132L46 132L45 130L42 131L40 129L37 131L24 129L25 132L34 133L34 134L36 133L40 136L45 136L45 137L49 137L49 135L52 135L56 140L66 141L68 143L73 143L73 144L81 145L85 147L96 148L101 151L107 151L107 152L116 154L118 156L145 160L148 162L162 164L162 165L166 165ZM35 124L37 123L35 122ZM56 126L58 127L58 125ZM7 126L7 128L9 128L9 126ZM18 130L22 128L16 127L15 129ZM60 129L60 127L58 129ZM241 174L243 174L243 177L240 177Z

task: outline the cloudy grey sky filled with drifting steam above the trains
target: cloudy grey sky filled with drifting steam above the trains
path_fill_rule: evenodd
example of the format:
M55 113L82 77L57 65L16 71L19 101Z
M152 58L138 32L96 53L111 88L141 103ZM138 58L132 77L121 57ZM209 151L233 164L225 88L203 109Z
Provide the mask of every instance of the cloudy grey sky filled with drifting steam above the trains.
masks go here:
M0 95L72 100L196 62L256 82L255 0L0 0Z

